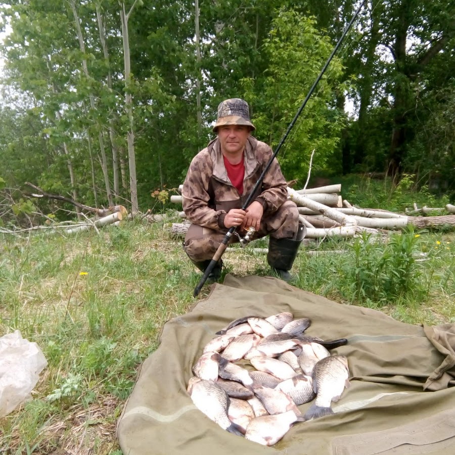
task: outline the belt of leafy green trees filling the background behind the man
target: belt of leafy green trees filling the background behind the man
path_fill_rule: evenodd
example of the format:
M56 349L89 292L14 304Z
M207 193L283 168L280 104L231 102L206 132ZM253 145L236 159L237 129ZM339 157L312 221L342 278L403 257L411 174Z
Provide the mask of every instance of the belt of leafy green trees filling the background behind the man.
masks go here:
M146 211L153 189L181 184L191 158L213 138L216 106L234 96L249 102L258 139L276 146L356 7L351 0L328 0L324 8L313 0L201 3L198 48L193 4L130 2L131 73L125 77L121 4L74 3L84 49L70 2L0 7L12 29L1 47L7 188L30 181L106 206L107 182L116 176L121 183L114 199L128 205L132 122L138 199ZM434 0L383 0L372 11L365 8L278 157L286 177L303 180L314 149L313 172L384 172L393 164L416 175L419 187L451 194L453 15L452 3L441 9ZM412 45L400 47L406 38ZM356 110L349 122L346 94ZM125 95L132 96L131 115ZM48 208L44 213L53 212Z

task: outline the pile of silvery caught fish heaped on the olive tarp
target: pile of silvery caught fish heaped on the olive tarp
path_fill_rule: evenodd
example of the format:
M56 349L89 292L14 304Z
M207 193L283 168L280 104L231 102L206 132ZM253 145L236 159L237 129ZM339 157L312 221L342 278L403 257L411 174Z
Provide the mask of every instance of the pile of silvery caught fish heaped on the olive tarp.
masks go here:
M333 414L331 402L349 386L349 369L347 358L329 349L347 340L303 335L310 324L283 312L242 317L217 332L193 366L187 390L196 407L221 428L263 445L278 442L297 422ZM313 399L302 415L297 406Z

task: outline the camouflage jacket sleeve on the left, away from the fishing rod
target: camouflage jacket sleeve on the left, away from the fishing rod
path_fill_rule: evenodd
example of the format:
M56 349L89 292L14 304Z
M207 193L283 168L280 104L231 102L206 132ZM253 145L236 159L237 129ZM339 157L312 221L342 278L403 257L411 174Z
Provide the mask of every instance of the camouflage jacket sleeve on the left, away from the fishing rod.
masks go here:
M193 158L181 195L185 215L192 223L218 230L224 225L222 221L226 212L209 206L208 188L212 173L213 163L207 149L204 149Z

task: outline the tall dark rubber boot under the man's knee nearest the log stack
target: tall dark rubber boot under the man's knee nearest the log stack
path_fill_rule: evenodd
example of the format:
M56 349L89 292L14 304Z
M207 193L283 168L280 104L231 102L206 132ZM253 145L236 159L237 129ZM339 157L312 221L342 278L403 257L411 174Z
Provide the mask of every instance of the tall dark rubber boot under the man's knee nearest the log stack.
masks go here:
M284 281L293 280L289 273L292 264L297 256L297 252L306 234L306 228L299 223L299 228L294 239L275 239L269 238L267 262L272 268L272 271Z

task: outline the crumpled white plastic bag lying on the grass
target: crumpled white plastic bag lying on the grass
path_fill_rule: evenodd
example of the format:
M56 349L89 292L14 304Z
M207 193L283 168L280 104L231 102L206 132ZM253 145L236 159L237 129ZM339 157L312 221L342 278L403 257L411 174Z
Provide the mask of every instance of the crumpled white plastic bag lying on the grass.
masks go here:
M47 365L39 346L24 340L19 330L0 337L0 417L31 398L39 373Z

